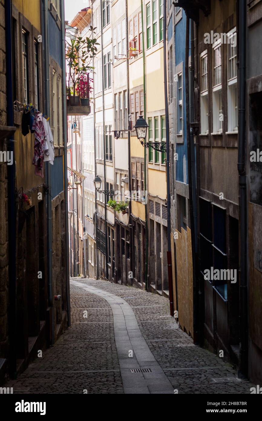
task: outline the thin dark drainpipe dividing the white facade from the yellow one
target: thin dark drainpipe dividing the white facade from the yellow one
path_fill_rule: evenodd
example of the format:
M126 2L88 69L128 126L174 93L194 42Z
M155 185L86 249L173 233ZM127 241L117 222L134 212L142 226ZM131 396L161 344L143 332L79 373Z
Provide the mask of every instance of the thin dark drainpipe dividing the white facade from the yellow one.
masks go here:
M126 50L127 50L127 55L128 55L128 50L129 50L129 41L128 41L128 5L127 5L127 0L126 0ZM129 114L130 114L130 86L129 86L129 62L127 59L127 136L128 136L128 184L129 184L129 189L130 189L130 193L132 190L132 182L131 182L131 147L130 147L130 131L128 130L129 127ZM132 222L132 218L131 218L131 214L132 214L132 200L130 197L130 201L129 201L129 233L130 233L130 269L133 270L133 222ZM131 223L131 226L130 226ZM132 279L132 283L133 283L133 279Z

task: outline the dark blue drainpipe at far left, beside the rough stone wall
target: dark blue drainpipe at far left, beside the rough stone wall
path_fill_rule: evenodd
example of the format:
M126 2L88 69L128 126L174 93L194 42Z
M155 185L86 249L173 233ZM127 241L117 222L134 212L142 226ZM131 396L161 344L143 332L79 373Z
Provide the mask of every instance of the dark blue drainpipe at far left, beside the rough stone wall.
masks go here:
M6 44L6 101L7 125L13 126L13 69L12 69L12 1L5 0L5 44ZM13 165L8 171L8 248L9 248L9 370L16 379L16 200L15 200L15 155L13 135L7 144L13 154Z

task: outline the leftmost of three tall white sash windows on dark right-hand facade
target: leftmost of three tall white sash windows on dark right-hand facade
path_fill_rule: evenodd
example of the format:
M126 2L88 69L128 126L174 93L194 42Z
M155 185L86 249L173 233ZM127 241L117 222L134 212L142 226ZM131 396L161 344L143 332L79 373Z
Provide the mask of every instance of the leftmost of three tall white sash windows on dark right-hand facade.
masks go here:
M200 111L201 111L201 133L208 133L208 85L207 85L207 52L201 54L201 90L200 90Z

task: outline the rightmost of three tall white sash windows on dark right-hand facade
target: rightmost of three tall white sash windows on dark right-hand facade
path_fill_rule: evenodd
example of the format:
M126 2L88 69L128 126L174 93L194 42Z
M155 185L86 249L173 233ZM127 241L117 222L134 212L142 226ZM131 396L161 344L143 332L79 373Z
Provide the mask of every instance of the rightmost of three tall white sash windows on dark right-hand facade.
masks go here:
M227 44L228 65L228 131L238 131L238 90L236 70L236 28L230 34L230 43Z

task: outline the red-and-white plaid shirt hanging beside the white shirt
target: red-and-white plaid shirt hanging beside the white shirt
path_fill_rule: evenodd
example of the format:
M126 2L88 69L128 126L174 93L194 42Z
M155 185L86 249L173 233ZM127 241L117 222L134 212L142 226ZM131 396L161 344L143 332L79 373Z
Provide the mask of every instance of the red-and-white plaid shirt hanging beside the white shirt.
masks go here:
M40 112L36 112L32 129L34 132L34 157L32 164L35 166L34 173L36 176L44 177L43 162L44 151L48 149L45 136L43 118Z

